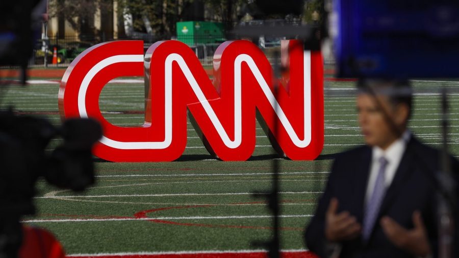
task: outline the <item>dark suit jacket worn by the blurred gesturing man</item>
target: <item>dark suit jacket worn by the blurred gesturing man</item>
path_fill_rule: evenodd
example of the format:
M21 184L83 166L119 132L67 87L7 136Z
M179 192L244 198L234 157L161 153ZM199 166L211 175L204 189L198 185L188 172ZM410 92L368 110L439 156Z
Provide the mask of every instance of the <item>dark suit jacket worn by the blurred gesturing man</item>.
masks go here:
M339 154L333 163L316 214L305 231L308 248L319 256L326 257L327 241L324 237L324 223L331 198L336 197L339 201L338 213L347 210L363 225L364 201L371 158L371 147L363 146ZM421 212L432 251L434 254L437 253L436 205L438 199L435 176L439 169L438 164L439 151L421 144L412 136L406 145L394 179L386 190L369 240L364 243L362 238L358 237L340 243L342 245L340 257L414 257L389 241L382 231L379 220L382 216L389 216L404 228L413 228L412 215L415 210ZM459 168L457 160L452 159L452 165L453 173L457 175ZM457 218L457 216L454 217Z

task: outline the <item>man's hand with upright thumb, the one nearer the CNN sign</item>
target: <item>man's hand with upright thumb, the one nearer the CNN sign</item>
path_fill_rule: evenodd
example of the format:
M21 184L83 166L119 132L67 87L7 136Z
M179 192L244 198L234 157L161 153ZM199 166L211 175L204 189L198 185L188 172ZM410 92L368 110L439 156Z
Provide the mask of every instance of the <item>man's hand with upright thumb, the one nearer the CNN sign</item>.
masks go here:
M351 240L359 236L361 226L348 212L337 214L338 200L331 198L325 215L325 238L331 242Z

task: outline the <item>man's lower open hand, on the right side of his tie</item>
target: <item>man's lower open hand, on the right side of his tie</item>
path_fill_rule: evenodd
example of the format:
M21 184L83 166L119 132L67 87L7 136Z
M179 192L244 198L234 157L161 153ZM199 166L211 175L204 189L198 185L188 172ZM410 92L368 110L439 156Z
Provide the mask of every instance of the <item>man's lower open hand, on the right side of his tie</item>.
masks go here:
M394 245L417 256L425 257L430 254L425 226L421 213L417 210L413 213L413 229L405 229L387 216L383 217L380 223L382 230Z

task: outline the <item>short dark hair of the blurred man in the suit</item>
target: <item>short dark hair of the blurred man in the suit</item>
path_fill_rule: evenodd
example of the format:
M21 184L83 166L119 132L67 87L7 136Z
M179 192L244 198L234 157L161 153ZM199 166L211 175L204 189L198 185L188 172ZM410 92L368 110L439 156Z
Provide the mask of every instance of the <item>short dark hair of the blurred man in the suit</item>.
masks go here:
M410 119L413 105L413 89L408 80L360 79L357 89L359 93L386 96L394 107L398 104L406 104L409 108L407 119Z

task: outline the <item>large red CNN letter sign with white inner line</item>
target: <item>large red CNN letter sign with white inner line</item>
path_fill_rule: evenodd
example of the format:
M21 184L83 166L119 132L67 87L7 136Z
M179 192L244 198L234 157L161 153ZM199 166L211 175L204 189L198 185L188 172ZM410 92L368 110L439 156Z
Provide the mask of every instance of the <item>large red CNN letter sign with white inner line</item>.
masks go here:
M256 115L278 152L312 160L322 151L324 138L322 56L303 51L297 40L282 45L282 63L290 68L275 79L281 85L276 94L268 59L249 41L226 41L218 47L213 80L180 41L157 42L145 56L142 41L100 43L67 68L59 89L60 115L63 120L98 120L104 136L93 154L111 161L179 158L187 143L187 108L207 150L222 160L251 156ZM121 76L145 78L143 126L113 125L99 110L100 91Z

